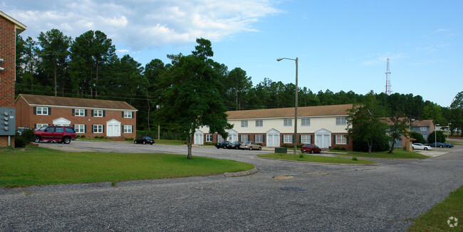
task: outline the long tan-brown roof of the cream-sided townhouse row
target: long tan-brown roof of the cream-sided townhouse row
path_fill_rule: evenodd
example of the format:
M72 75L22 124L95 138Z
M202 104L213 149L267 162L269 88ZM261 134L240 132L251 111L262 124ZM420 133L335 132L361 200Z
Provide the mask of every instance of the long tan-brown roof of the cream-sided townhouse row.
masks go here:
M298 107L298 117L347 116L347 110L351 109L352 107L352 104ZM294 117L294 107L263 110L228 111L227 114L228 120Z

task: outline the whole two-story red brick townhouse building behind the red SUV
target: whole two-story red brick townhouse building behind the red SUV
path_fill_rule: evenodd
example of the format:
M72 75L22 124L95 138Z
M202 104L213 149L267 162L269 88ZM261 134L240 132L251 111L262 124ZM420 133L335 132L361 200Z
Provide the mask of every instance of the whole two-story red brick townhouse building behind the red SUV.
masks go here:
M77 135L123 139L135 137L137 109L127 102L20 94L16 127L72 126Z

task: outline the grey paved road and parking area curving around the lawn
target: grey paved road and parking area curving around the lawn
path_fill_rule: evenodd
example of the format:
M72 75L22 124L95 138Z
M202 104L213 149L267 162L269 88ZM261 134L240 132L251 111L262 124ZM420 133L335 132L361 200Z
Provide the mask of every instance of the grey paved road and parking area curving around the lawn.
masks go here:
M186 154L186 146L119 142L40 143L101 152ZM0 231L405 231L463 185L463 146L425 160L342 166L256 158L269 151L194 147L259 172L0 189ZM274 176L290 176L274 179ZM292 178L291 178L292 176ZM283 190L297 187L302 191ZM447 223L442 221L442 223Z

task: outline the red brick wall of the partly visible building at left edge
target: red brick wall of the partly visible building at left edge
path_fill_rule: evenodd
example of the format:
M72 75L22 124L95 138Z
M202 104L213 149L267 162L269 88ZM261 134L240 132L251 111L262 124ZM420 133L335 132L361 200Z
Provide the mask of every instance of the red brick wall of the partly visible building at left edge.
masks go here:
M0 16L0 107L14 107L14 75L16 62L16 29L14 23ZM8 146L8 136L0 136L0 147ZM14 147L14 136L11 136Z

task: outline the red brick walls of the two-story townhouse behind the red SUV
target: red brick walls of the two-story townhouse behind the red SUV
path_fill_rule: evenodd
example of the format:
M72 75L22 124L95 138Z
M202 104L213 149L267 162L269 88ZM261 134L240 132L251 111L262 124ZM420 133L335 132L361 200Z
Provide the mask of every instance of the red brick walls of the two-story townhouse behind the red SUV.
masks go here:
M60 107L51 107L49 115L34 115L33 107L30 107L22 98L19 98L16 101L16 127L25 127L26 125L29 128L36 127L37 124L48 124L53 125L53 120L56 120L60 117L66 118L66 120L71 121L71 126L73 125L86 125L87 131L85 133L78 133L77 135L85 135L85 137L93 138L95 136L104 136L106 137L106 132L108 128L106 127L106 122L109 120L118 120L120 125L120 137L122 138L135 138L137 130L137 114L133 113L133 118L124 118L122 115L123 111L120 110L105 110L105 117L91 117L91 110L87 110L87 116L73 116L72 108L60 108ZM93 133L92 125L104 125L105 129L103 133ZM132 125L132 133L124 133L123 126Z

